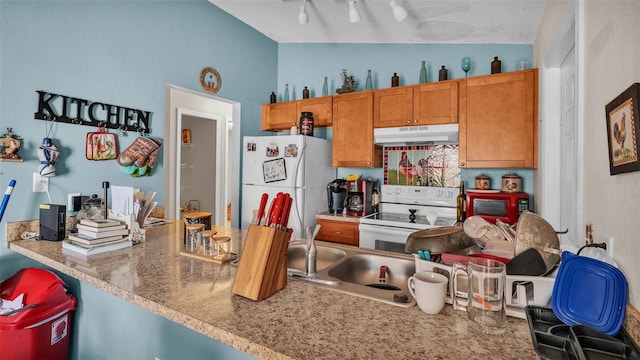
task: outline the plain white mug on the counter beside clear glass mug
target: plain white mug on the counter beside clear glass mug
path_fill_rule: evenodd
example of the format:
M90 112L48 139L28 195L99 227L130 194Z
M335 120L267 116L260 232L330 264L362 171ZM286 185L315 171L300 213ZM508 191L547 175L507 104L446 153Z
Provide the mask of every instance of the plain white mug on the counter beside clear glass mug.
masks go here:
M449 279L432 271L420 271L409 277L409 292L418 302L420 310L437 314L444 308Z

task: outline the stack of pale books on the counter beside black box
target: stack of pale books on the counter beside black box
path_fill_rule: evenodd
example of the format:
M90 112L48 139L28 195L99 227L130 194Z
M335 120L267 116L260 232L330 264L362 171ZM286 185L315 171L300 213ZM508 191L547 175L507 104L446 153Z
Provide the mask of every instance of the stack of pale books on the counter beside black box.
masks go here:
M124 223L112 220L80 219L77 234L70 234L62 242L62 249L82 255L93 255L123 249L132 245Z

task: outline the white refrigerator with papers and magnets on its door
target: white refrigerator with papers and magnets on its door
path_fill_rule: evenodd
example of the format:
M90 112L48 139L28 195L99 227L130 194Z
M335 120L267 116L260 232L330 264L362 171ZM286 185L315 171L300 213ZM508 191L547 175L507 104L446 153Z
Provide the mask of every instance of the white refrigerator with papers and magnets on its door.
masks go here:
M245 136L242 161L242 228L248 229L263 193L269 195L265 215L278 192L293 198L289 227L294 237L315 226L316 214L327 211L327 184L336 178L331 141L304 135Z

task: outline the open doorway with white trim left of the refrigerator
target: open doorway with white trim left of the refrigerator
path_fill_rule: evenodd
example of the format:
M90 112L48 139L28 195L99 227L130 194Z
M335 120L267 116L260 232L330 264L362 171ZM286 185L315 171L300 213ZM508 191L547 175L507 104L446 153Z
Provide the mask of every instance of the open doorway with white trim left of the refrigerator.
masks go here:
M216 225L239 227L240 104L165 86L164 205L167 216L211 212ZM183 138L188 130L189 141Z

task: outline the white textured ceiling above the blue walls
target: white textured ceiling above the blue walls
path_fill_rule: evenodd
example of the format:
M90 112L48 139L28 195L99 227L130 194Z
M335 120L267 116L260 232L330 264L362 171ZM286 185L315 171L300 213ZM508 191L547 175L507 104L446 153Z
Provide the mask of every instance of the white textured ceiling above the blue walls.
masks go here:
M346 0L209 0L278 43L533 44L545 0L397 0L408 16L397 22L389 0L358 0L350 23Z

